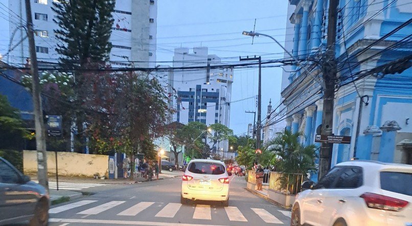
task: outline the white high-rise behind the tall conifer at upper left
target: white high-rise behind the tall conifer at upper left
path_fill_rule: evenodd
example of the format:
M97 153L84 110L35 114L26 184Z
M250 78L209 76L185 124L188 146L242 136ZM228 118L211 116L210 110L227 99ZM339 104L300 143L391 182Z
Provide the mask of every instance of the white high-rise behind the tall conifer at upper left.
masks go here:
M57 0L31 0L33 28L39 61L56 62L59 58L55 51L58 40L53 30L58 29L53 21L56 17L52 10ZM24 0L0 0L3 19L0 22L3 37L0 40L0 54L4 61L24 65L29 57L29 44L26 38L26 7ZM4 13L8 12L8 14ZM155 0L117 0L112 12L115 21L112 25L110 41L110 63L113 67L130 66L154 67L156 61L157 1ZM20 42L21 39L24 39Z

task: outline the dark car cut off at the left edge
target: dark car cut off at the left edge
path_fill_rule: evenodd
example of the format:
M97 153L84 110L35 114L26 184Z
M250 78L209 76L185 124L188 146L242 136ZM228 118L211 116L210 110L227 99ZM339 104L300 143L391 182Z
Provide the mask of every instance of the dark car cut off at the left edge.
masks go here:
M0 157L0 225L24 220L47 225L49 207L47 190Z

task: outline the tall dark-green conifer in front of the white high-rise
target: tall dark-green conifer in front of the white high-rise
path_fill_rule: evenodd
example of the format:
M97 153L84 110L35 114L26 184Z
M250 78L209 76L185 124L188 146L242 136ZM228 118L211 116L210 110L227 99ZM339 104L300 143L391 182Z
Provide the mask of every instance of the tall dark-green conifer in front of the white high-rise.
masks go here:
M104 66L109 59L111 42L111 27L113 18L111 12L115 0L82 1L59 0L53 3L59 26L54 30L59 41L56 51L60 55L62 68L74 69L73 113L76 117L76 152L82 153L85 146L84 125L87 111L85 99L93 88L90 72L80 72L78 69L93 69ZM92 72L93 73L93 72Z

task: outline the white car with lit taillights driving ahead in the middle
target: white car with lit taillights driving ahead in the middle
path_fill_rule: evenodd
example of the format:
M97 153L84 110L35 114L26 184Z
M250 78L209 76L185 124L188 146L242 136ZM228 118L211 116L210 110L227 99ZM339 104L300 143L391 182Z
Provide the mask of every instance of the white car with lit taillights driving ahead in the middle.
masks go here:
M181 182L180 203L188 199L229 202L229 177L223 162L209 159L195 159L189 162Z

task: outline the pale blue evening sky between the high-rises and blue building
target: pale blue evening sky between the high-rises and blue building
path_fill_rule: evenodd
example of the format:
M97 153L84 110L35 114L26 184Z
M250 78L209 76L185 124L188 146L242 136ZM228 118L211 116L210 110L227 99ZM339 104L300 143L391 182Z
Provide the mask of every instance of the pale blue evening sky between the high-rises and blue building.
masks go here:
M209 47L209 54L233 63L238 63L239 56L255 54L263 60L283 57L282 49L271 39L257 37L251 45L251 37L243 36L242 31L253 30L256 18L256 31L273 35L284 44L286 0L158 0L157 4L157 61L171 61L174 47L200 44ZM232 101L258 94L258 69L237 69L234 79ZM279 103L281 81L281 68L262 68L262 120L269 99L272 106ZM230 128L235 134L245 133L253 114L244 111L257 110L255 99L231 106Z

